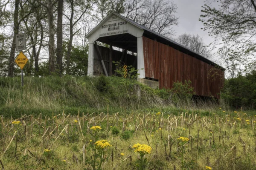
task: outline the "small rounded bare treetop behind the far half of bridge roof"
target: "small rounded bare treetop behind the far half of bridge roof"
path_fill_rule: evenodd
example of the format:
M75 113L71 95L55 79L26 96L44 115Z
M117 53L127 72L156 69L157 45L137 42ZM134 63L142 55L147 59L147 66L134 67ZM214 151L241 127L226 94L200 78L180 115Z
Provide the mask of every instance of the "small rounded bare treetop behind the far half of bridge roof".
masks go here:
M193 52L196 52L205 58L211 57L211 52L207 49L207 46L204 44L204 40L199 35L191 34L182 34L177 37L177 43L191 49Z

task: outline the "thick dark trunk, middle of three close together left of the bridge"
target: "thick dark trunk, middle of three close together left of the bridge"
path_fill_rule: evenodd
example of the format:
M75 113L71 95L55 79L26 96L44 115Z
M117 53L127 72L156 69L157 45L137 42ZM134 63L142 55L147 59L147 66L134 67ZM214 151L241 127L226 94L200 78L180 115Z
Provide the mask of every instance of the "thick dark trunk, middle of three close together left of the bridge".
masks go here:
M63 0L58 0L58 20L57 20L57 71L59 75L62 74L62 11L63 11Z

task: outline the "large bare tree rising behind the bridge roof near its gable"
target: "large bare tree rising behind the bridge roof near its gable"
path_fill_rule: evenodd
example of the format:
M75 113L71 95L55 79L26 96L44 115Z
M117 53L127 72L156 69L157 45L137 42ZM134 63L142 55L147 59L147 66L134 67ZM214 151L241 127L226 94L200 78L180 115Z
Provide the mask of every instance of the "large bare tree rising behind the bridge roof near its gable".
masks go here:
M128 0L125 2L125 15L147 28L170 37L174 35L173 25L178 24L175 16L176 4L169 0Z

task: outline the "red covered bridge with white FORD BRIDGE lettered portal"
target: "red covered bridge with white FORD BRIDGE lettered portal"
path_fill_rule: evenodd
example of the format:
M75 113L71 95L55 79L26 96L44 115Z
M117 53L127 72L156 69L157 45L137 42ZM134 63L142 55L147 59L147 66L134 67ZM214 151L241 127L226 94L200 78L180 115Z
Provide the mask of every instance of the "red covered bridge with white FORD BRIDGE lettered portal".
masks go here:
M196 95L220 97L224 68L119 14L109 14L86 38L88 76L113 75L113 61L122 61L138 69L138 80L146 84L170 89L174 82L190 80Z

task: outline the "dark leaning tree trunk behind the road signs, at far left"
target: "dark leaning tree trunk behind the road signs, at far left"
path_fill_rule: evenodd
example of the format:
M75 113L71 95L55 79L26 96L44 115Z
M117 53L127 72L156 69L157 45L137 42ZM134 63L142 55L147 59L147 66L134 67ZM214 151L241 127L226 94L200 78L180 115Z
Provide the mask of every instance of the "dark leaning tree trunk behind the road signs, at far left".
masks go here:
M15 0L15 9L14 9L14 37L12 40L12 47L11 47L11 54L9 57L9 68L8 68L8 76L13 76L13 70L14 70L14 58L15 58L15 36L19 32L19 23L18 23L18 17L19 17L19 3L20 0Z

